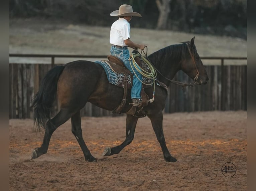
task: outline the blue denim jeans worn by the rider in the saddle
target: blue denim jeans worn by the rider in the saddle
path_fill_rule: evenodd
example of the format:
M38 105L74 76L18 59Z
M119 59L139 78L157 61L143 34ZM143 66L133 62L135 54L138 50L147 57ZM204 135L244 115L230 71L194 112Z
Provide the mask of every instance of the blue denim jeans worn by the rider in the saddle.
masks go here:
M139 81L142 80L142 75L135 69L135 67L132 65L132 68L135 72L132 71L130 61L128 60L130 57L129 50L127 47L115 47L112 46L110 49L110 53L112 56L116 56L117 58L121 59L124 62L125 67L133 74L133 80L132 80L132 89L131 89L131 98L138 98L140 99L140 92L142 89L142 83Z

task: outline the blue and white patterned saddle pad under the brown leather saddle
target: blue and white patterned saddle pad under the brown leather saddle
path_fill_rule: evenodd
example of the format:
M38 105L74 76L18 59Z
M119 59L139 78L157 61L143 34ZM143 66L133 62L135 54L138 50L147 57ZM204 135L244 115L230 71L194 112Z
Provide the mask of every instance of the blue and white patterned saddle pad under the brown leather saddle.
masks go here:
M100 64L104 68L104 70L106 72L106 75L107 75L107 78L108 78L108 81L109 81L110 84L113 84L115 86L124 88L124 74L116 73L104 61L95 61L95 63ZM128 88L130 89L132 87L132 82L131 82L131 76L130 75L127 75L127 80L128 80ZM152 79L142 77L142 82L144 82L146 84L151 84Z

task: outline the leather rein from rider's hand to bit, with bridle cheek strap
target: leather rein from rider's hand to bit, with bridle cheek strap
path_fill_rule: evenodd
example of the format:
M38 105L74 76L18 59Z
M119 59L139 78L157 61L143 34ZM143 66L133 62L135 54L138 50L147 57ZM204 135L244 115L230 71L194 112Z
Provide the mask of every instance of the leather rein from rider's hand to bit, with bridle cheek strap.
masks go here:
M192 60L193 60L193 63L194 63L194 65L195 65L195 67L196 67L196 70L197 70L197 72L196 72L196 77L194 78L194 84L188 84L188 83L183 83L183 82L178 82L178 81L174 81L174 80L171 80L171 79L169 79L169 78L166 78L165 76L163 76L156 68L155 68L155 66L154 65L152 65L152 63L151 63L151 61L149 60L149 58L147 57L147 46L145 46L147 49L146 49L146 53L144 52L144 50L142 50L141 51L141 53L143 52L144 53L144 55L146 56L146 59L150 62L150 64L155 68L155 70L162 76L162 77L164 77L166 80L168 80L168 81L170 81L171 83L173 83L173 84L176 84L176 85L178 85L178 86L181 86L182 88L185 88L186 86L191 86L191 87L193 87L195 84L196 84L196 81L198 80L198 76L199 76L199 71L198 71L198 68L197 68L197 65L196 65L196 62L195 62L195 59L194 59L194 56L193 56L193 54L191 53L191 51L190 51L190 48L189 48L189 46L188 46L188 43L186 43L186 45L187 45L187 49L188 49L188 52L189 52L189 54L190 54L190 56L191 56L191 58L192 58ZM139 52L138 52L138 54L140 54ZM141 55L141 54L140 54Z

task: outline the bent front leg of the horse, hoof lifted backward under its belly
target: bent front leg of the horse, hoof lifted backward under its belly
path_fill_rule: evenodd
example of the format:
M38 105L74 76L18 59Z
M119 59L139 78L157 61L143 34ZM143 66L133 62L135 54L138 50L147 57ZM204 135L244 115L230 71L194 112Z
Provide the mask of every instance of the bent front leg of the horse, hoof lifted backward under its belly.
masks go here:
M103 156L110 156L118 154L125 146L130 144L134 138L135 127L138 121L138 117L132 115L126 116L126 138L122 144L115 147L106 147L102 153Z

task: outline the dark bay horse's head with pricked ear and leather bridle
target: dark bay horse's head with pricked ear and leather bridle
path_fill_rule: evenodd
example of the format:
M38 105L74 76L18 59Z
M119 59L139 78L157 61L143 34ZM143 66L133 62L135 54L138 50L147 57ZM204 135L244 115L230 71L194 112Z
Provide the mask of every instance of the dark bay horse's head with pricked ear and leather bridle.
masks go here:
M191 39L187 45L187 54L185 59L181 61L181 70L185 72L190 78L192 78L197 85L206 84L209 80L205 67L197 53L196 46L194 44L195 37Z

